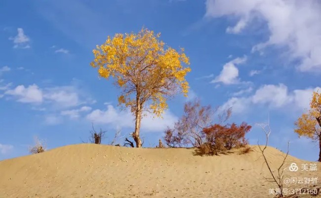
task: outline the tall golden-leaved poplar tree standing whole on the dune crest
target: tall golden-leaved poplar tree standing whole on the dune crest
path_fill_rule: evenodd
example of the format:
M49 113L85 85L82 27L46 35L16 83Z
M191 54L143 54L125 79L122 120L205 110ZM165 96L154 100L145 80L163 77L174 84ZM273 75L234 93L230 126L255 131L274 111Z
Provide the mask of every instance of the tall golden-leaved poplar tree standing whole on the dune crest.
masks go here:
M189 58L183 48L177 52L165 46L159 37L160 33L144 28L139 33L108 36L105 43L93 50L95 59L90 63L98 67L100 77L113 77L114 85L120 88L119 104L130 108L135 117L132 136L136 147L142 145L142 116L151 112L161 117L167 99L179 91L184 96L188 93L185 76L191 69L183 65L189 65Z

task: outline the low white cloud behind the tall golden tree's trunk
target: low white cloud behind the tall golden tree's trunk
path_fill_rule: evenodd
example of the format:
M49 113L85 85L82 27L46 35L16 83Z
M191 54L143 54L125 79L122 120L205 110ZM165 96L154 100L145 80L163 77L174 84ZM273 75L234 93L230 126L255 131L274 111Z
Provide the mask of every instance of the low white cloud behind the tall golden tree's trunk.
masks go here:
M141 130L145 132L161 132L172 126L178 118L169 110L166 110L162 118L153 118L153 115L147 113L143 117ZM110 124L114 127L134 128L134 117L129 110L119 111L113 105L108 105L106 110L96 109L90 112L86 118L94 123Z

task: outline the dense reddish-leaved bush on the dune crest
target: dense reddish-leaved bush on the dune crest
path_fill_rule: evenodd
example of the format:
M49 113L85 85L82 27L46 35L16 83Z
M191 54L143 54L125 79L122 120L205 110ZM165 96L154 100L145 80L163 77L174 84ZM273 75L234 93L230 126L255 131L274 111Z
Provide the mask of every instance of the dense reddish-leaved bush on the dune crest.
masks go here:
M230 150L234 147L242 147L247 145L245 134L251 130L251 126L242 123L237 126L235 123L229 125L215 124L211 127L203 129L206 136L206 142L211 145L213 154L222 149Z

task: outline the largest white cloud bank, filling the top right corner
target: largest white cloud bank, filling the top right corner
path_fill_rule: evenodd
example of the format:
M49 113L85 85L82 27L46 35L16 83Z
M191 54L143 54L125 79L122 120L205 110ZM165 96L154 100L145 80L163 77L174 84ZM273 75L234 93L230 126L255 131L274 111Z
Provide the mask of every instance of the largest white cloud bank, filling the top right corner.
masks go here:
M277 45L288 49L290 60L299 58L301 71L321 68L321 3L317 0L206 0L206 17L233 16L239 21L228 33L240 33L254 18L269 28L269 39L253 47L262 51Z

